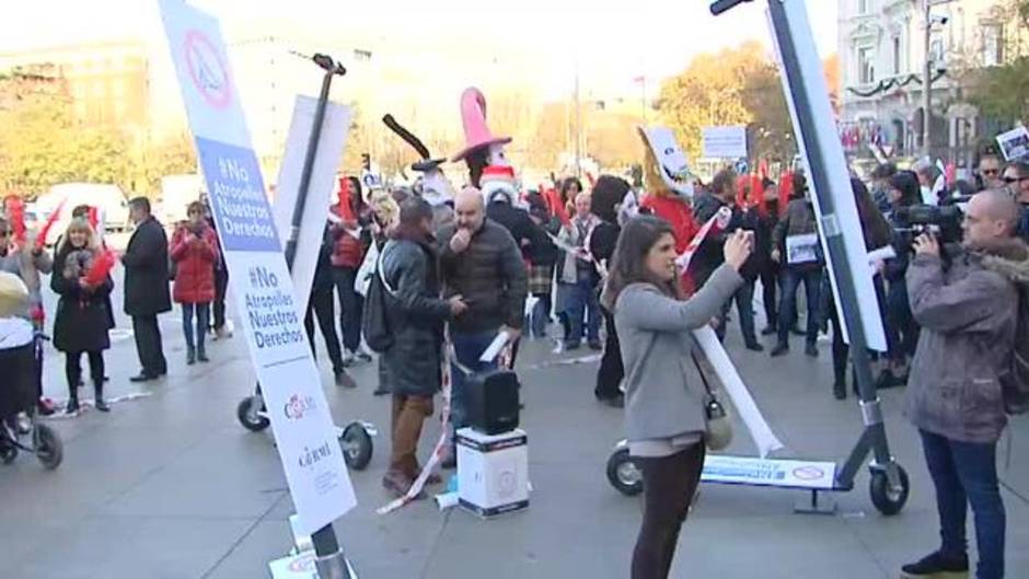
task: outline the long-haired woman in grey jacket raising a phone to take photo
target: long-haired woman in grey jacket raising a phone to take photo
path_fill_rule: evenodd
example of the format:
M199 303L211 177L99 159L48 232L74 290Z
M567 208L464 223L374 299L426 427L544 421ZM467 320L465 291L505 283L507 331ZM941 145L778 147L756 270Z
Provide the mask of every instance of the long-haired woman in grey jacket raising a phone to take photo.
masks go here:
M739 269L753 234L738 231L725 264L684 299L677 282L672 228L649 216L622 230L604 290L625 363L625 425L629 453L643 471L644 518L633 552L633 579L666 578L679 530L701 480L705 455L706 390L686 380L692 329L703 327L743 283Z

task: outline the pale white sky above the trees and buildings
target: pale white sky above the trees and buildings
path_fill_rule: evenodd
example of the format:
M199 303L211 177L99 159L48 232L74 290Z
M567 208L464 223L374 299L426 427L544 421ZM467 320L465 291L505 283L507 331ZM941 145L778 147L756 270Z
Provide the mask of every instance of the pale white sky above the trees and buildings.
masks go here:
M835 51L836 1L805 0L821 56ZM768 45L764 1L719 18L707 0L195 0L229 37L340 38L537 68L543 84L571 84L578 60L586 89L681 71L704 51L745 39ZM0 54L81 42L141 38L163 43L153 0L2 0ZM487 8L488 5L488 8ZM403 40L397 40L403 38ZM155 45L155 46L161 46ZM461 57L454 56L459 66ZM473 80L474 79L470 79ZM602 89L600 89L602 90Z

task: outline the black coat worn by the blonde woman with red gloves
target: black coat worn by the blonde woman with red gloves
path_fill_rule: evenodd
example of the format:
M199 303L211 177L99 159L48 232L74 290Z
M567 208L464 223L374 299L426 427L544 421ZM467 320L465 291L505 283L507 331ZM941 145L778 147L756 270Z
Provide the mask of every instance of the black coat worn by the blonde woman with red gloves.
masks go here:
M74 251L65 244L54 258L50 289L60 298L54 316L54 347L59 351L101 351L111 347L109 297L114 289L111 276L93 291L85 291L78 279L65 278L65 263Z

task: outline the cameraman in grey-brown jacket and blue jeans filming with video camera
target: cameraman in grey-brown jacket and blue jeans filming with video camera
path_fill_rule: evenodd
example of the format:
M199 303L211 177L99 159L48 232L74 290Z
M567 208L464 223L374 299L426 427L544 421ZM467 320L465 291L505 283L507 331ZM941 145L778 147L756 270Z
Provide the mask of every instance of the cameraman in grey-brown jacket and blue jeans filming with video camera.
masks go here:
M1015 232L1018 208L1005 189L972 198L963 246L940 258L932 235L915 241L907 289L922 336L911 371L905 414L918 428L936 487L943 544L905 565L904 577L969 568L966 512L971 503L979 579L1004 576L1004 503L996 444L1006 426L998 374L1010 366L1018 308L1016 288L991 267L1026 267L1029 250Z

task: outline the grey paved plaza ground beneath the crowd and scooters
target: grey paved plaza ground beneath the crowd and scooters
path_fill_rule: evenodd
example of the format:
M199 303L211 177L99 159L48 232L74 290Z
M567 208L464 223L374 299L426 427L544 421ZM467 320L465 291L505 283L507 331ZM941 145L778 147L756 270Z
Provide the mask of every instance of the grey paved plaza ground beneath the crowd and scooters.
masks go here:
M127 382L137 370L130 336L107 356L113 395L151 396L115 405L109 415L53 420L66 444L56 472L30 456L0 466L2 577L254 579L269 577L267 563L289 549L291 505L271 438L235 420L236 404L253 389L242 339L215 343L212 363L186 367L177 312L162 327L166 380L142 387ZM729 349L794 455L842 460L849 452L859 412L854 398L832 399L828 345L818 360L796 352L772 361L743 350L733 327ZM380 478L389 453L388 399L371 395L372 366L355 371L356 391L331 385L323 368L337 422L361 418L382 430L369 468L351 473L359 506L336 524L362 579L627 577L640 505L604 476L621 437L621 413L593 402L596 363L550 364L553 359L548 344L522 348L522 422L534 491L528 511L490 521L439 512L431 501L375 514L386 501ZM47 392L63 397L61 363L56 355L47 361ZM672 576L895 578L902 563L934 548L933 494L915 432L900 417L900 396L883 393L893 452L912 477L901 514L875 511L866 473L853 493L835 497L840 511L829 517L794 514L796 491L705 486ZM1008 577L1018 579L1029 577L1029 465L1018 460L1029 420L1015 420L1011 430L1013 464L1002 471ZM739 425L737 433L730 450L751 454ZM426 451L437 435L433 420Z

